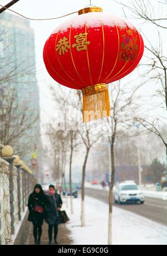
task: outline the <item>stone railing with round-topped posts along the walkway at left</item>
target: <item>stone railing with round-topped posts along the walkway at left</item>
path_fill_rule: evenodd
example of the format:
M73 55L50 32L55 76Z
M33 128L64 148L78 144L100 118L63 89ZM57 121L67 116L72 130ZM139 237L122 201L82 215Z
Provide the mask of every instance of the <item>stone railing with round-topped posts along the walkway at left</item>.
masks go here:
M0 245L13 243L35 179L13 157L0 158Z

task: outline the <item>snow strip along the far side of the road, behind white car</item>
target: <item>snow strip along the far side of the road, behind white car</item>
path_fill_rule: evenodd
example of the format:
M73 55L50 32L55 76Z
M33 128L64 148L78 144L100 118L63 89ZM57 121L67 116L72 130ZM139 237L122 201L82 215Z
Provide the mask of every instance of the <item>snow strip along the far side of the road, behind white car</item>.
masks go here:
M95 188L95 189L102 189L102 186L99 185L92 185L89 182L85 183L85 187L89 188ZM109 191L109 187L106 187L106 190ZM154 191L154 190L149 190L149 189L142 189L144 196L146 197L154 197L154 198L159 198L161 200L167 201L167 192L162 192L162 191Z

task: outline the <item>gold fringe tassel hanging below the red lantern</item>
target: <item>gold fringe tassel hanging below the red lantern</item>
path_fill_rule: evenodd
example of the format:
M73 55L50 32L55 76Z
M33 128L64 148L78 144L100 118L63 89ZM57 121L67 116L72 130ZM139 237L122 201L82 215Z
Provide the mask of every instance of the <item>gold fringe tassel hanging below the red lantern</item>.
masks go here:
M84 122L110 116L109 91L105 83L82 89L82 95Z

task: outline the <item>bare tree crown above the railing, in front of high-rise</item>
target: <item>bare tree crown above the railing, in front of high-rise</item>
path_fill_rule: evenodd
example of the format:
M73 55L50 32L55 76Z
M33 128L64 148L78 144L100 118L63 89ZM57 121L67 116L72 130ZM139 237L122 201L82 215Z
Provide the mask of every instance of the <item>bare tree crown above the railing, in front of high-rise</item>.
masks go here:
M21 106L14 88L1 87L0 90L0 142L15 145L27 132L33 129L38 116L28 116L28 101ZM30 110L29 110L30 111ZM32 110L33 111L33 110ZM27 145L28 146L28 145Z

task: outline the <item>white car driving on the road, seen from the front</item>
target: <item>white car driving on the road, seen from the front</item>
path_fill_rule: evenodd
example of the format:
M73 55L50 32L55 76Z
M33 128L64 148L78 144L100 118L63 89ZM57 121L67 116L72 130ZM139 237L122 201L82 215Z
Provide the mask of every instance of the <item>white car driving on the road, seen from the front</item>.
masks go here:
M120 183L114 191L115 203L128 203L128 202L140 202L144 203L143 192L137 187L135 183Z

